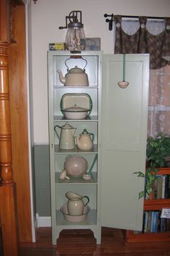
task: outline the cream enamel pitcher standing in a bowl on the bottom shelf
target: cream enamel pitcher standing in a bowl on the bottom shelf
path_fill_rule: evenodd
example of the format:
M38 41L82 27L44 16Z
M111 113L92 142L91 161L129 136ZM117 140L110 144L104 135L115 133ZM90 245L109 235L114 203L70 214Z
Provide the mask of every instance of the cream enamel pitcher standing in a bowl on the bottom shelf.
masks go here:
M89 197L86 195L81 196L74 192L66 192L66 197L68 198L68 214L71 216L81 216L84 213L84 207L89 202ZM87 200L86 203L84 202L84 198Z

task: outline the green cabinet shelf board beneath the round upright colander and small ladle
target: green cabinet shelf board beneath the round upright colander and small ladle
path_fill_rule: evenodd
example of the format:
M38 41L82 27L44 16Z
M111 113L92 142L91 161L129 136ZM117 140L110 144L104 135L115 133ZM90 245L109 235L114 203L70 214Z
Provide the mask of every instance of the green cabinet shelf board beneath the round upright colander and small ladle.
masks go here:
M76 184L91 184L91 185L96 185L97 184L97 173L94 172L92 173L92 178L89 181L86 181L85 179L83 179L83 177L70 177L70 179L59 179L61 172L55 172L55 184L61 184L61 185L68 185L68 184L72 184L72 185L76 185Z

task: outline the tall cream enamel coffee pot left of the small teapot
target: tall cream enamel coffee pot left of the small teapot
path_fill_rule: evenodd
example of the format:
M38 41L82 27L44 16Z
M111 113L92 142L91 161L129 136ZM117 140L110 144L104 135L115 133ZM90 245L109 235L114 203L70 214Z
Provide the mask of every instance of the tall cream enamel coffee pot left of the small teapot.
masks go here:
M61 135L58 135L56 127L61 129ZM76 132L76 128L73 128L68 122L60 127L59 125L55 125L54 127L56 135L59 140L59 148L63 150L71 150L76 147L74 134Z

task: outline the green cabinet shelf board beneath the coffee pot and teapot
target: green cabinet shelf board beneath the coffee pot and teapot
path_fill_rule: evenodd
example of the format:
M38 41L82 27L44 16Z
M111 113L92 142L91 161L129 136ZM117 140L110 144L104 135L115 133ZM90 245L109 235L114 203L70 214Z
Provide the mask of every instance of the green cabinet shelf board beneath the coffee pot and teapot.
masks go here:
M73 150L61 150L59 149L59 145L54 146L54 153L58 154L94 154L98 152L97 145L94 145L94 147L91 150L79 150L79 148L75 148Z

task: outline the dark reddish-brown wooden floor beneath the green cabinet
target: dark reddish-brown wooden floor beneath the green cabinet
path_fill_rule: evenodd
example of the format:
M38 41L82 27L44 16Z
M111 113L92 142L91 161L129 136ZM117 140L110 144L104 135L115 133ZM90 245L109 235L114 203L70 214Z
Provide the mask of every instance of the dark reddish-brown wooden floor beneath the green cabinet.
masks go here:
M37 242L20 244L19 256L167 256L170 242L125 244L122 231L102 228L102 243L97 245L90 230L64 230L58 244L51 244L51 230L37 230Z

